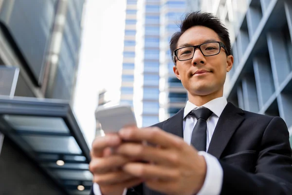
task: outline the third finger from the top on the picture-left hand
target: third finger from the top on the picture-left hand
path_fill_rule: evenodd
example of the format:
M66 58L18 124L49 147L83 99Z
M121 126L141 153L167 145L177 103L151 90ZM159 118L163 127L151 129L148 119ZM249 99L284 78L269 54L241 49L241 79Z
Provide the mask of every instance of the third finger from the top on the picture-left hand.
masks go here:
M133 178L133 176L125 173L124 171L118 171L107 174L96 174L93 176L93 182L98 185L111 185L127 181L131 178Z

